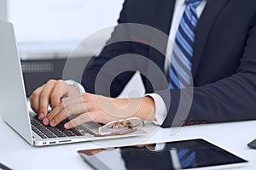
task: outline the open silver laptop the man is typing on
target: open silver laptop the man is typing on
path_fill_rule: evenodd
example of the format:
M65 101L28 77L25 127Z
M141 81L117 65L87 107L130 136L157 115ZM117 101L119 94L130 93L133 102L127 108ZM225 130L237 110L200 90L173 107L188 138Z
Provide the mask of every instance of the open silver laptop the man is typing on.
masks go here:
M20 57L11 23L0 22L0 37L0 94L3 98L3 102L0 103L0 116L29 144L35 146L67 144L141 136L148 133L145 129L138 129L124 135L99 136L97 129L101 125L96 122L84 123L71 130L64 129L61 124L58 127L44 126L42 122L38 121L38 116L35 113L29 112L26 103ZM150 127L150 125L148 126Z

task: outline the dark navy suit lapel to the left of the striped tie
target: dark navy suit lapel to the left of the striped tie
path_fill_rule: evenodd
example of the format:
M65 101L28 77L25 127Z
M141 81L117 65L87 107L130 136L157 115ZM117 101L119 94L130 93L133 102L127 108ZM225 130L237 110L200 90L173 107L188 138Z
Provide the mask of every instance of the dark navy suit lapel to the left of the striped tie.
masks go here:
M156 9L154 11L154 22L152 26L155 29L158 29L162 32L164 32L166 35L169 35L169 31L172 25L172 14L174 9L175 0L156 0ZM163 34L161 34L163 35ZM164 64L165 64L165 57L163 55L160 55L160 52L157 50L160 50L161 52L166 52L166 43L168 40L168 36L166 37L160 37L157 34L151 34L150 37L150 43L157 46L157 49L154 49L152 47L148 50L148 59L154 61L154 63L160 68L161 72L164 71ZM149 61L150 61L149 60ZM149 62L148 61L148 62ZM166 84L166 77L163 74L163 77L158 73L158 71L152 70L152 65L148 64L147 72L148 75L151 75L151 77L154 77L153 82L148 82L148 80L144 80L145 86L148 90L148 93L153 92L154 90L167 88L168 84ZM150 76L149 76L150 77ZM154 83L155 82L155 83ZM150 88L150 84L153 83L154 89Z

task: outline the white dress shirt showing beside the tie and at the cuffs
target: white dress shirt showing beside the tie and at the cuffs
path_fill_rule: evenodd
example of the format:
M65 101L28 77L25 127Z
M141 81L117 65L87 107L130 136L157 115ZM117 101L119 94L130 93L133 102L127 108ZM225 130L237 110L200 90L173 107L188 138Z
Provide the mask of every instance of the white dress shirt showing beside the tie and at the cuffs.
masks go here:
M198 18L200 18L205 6L207 4L207 0L203 0L201 4L196 8L196 13ZM183 12L185 10L186 4L185 0L177 0L175 3L174 13L172 17L172 26L169 33L169 41L167 42L167 48L166 48L166 64L165 64L165 71L169 72L169 68L171 65L170 61L172 57L172 47L173 42L175 42L175 37L177 34L177 29L179 26L179 23L183 17ZM171 8L171 7L170 7ZM168 75L168 74L167 74ZM75 85L76 88L79 88L80 92L84 92L84 88L81 85L78 85L77 82L70 83L70 80L68 81L69 84ZM161 98L159 94L145 94L145 96L150 96L154 99L155 104L155 119L156 124L161 125L167 116L167 109L166 104L164 100Z

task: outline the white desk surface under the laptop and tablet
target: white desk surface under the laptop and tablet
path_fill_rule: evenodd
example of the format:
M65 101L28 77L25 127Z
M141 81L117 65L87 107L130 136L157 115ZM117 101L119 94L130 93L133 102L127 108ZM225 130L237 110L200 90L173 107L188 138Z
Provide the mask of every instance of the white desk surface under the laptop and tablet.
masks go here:
M249 161L241 169L256 168L256 150L248 149L247 143L256 138L256 121L208 124L200 126L160 129L145 138L114 139L101 142L62 144L33 147L26 143L0 118L0 162L14 169L90 169L77 154L77 150L93 149L112 144L137 144L179 139L207 139L213 144L235 153ZM175 132L175 133L174 133Z

